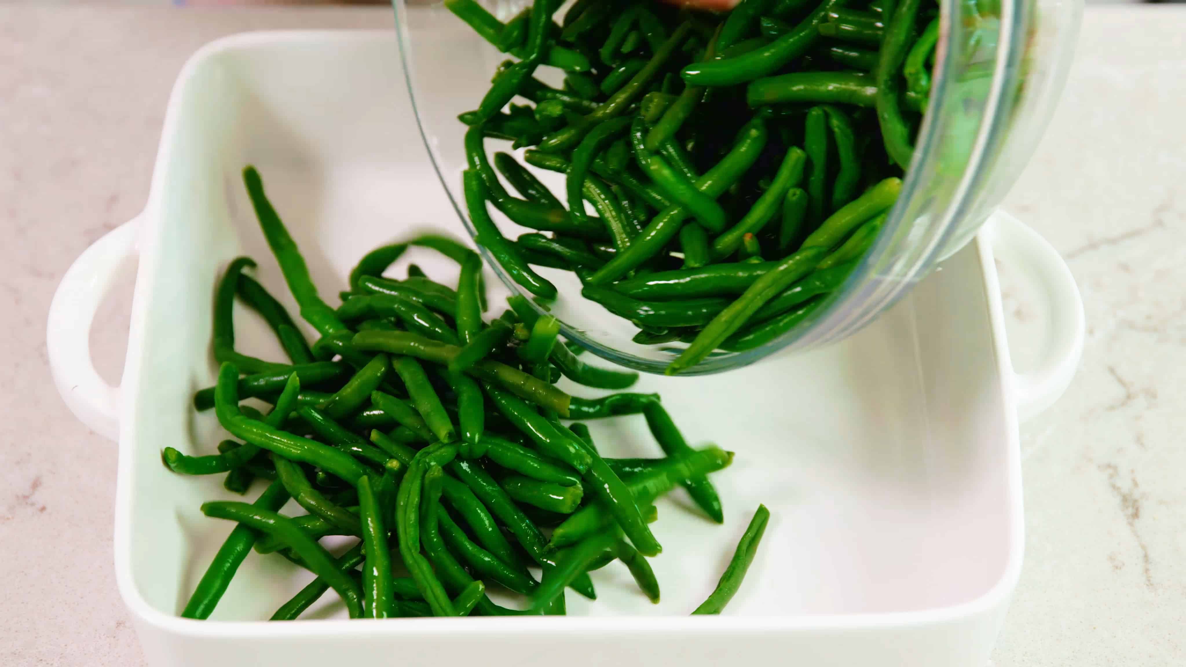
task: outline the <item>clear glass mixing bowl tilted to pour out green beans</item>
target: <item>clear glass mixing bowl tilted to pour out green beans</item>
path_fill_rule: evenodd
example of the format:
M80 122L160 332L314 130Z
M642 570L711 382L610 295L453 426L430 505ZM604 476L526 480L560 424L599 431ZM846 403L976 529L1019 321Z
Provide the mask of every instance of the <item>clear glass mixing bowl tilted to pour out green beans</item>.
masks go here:
M651 0L638 0L651 1ZM486 0L508 20L530 0ZM1083 0L940 0L940 37L930 103L918 132L901 196L876 244L823 307L783 337L740 352L716 351L682 374L719 373L778 351L799 351L852 335L893 305L944 258L963 247L1021 173L1066 80ZM461 172L465 126L457 115L477 107L506 56L440 2L395 0L403 66L420 131L441 183L474 234ZM560 84L561 72L537 76ZM555 77L548 80L548 74ZM491 145L487 140L487 151ZM510 142L496 150L510 151ZM563 176L533 170L554 192ZM510 239L533 231L491 209ZM530 297L483 249L506 286ZM567 271L537 268L560 297L549 304L569 341L610 361L662 373L683 345L643 345L627 320L580 296ZM540 307L540 306L536 306ZM542 310L541 310L542 312Z

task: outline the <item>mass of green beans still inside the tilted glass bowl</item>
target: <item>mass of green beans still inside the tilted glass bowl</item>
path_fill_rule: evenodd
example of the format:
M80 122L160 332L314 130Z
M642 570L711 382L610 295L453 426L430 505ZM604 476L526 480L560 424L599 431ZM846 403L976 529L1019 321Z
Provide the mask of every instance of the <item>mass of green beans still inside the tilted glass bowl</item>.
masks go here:
M723 14L579 0L559 23L559 4L535 0L505 25L474 0L445 5L519 58L459 116L477 242L538 299L556 288L533 267L573 271L636 342L687 343L669 374L773 341L843 287L897 201L938 39L922 0ZM510 153L491 166L486 140L565 173L563 195ZM508 239L487 203L530 231Z

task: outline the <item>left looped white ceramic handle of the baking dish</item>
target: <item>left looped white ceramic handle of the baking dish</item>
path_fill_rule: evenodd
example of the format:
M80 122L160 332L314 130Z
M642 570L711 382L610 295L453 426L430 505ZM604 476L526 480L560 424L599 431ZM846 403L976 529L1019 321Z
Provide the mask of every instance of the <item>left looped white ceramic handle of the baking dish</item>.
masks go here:
M120 388L108 385L95 370L90 325L123 261L136 253L139 231L136 216L78 255L53 293L45 326L50 373L66 407L93 431L113 440L120 437Z

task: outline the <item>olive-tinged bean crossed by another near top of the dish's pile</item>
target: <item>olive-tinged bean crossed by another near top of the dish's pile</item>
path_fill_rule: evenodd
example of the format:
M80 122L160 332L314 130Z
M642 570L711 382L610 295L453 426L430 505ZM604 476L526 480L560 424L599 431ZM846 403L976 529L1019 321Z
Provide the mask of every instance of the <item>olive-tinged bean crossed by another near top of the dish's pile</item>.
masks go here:
M442 366L447 366L461 351L455 345L436 343L407 331L363 331L355 335L353 345L362 350L407 355ZM568 401L572 396L522 370L483 360L467 373L486 382L497 382L512 394L551 409L560 417L568 415Z

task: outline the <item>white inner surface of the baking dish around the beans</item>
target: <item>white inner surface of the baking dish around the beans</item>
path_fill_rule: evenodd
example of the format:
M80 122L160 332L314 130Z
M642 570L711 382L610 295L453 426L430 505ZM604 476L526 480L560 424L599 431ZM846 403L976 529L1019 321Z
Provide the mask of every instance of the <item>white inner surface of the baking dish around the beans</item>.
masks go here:
M219 272L236 255L255 258L257 278L298 312L255 223L242 167L260 169L331 304L377 244L429 229L465 237L417 134L395 38L306 37L240 38L198 58L164 139L138 284L147 299L141 363L126 385L136 387L121 453L132 472L120 483L132 485L134 585L165 614L180 611L231 528L204 517L200 503L242 500L223 490L222 476L183 477L160 460L164 446L213 453L227 437L212 411L195 414L190 402L216 371L210 318ZM427 250L393 273L402 277L409 260L455 280L457 268ZM506 292L492 273L486 284L487 317L497 316ZM283 358L254 313L236 305L235 317L240 351ZM728 614L919 611L984 595L1005 576L1016 520L1012 407L1002 402L991 330L969 247L840 344L721 375L644 376L632 390L662 393L689 442L737 452L713 477L726 523L701 517L677 490L658 503L653 526L664 546L652 560L662 603L650 604L625 567L611 565L593 574L597 603L568 593L569 614L687 615L712 591L758 503L771 523ZM662 456L640 415L589 426L606 456ZM213 618L264 620L310 579L279 555L251 554ZM344 616L334 597L306 617Z

